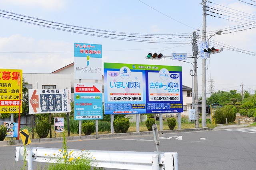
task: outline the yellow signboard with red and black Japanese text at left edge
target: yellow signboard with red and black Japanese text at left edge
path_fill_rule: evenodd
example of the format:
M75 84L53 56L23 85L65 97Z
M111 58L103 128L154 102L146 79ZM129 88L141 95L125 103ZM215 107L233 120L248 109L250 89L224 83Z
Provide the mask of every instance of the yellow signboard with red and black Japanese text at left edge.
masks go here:
M18 84L19 75L22 77L22 70L0 69L0 113L19 113L19 108L22 108L22 81Z

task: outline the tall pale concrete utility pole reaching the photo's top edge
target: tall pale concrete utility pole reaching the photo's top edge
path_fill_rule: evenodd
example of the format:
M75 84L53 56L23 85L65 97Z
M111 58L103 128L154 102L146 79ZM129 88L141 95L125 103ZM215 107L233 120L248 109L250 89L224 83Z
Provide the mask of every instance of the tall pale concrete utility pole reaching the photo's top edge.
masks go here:
M202 41L205 43L206 38L206 0L203 0L203 30ZM202 127L206 127L206 59L202 59Z

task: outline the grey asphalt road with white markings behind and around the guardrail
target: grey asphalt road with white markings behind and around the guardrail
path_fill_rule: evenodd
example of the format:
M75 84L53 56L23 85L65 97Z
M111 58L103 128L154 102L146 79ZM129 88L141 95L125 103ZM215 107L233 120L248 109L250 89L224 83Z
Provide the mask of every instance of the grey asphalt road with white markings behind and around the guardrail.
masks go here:
M246 129L246 128L244 128ZM146 141L145 141L146 140ZM156 151L153 136L68 141L69 149ZM160 135L160 151L178 152L180 170L256 169L256 133L241 131L196 131ZM17 145L0 147L0 169L15 170ZM32 147L62 148L62 143L31 144ZM44 164L39 163L41 168ZM34 169L36 163L34 163Z

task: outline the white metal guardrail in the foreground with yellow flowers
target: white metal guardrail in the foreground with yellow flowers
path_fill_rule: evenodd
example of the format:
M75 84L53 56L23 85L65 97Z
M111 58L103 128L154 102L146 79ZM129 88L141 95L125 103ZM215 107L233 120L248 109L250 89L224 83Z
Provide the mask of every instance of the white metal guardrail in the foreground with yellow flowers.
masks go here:
M118 168L126 170L178 170L177 152L131 152L131 151L104 151L104 150L72 150L75 158L90 153L90 165L103 168ZM32 170L32 161L57 163L64 161L62 149L42 147L16 147L15 160L28 161L28 170Z

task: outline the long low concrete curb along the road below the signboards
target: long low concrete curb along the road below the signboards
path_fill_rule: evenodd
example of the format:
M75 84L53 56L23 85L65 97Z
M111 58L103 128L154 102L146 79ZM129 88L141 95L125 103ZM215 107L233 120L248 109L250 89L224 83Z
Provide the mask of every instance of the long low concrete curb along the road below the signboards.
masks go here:
M159 134L165 133L181 133L181 132L191 132L191 131L210 131L212 129L205 128L195 128L195 129L180 129L180 130L164 130L158 131ZM67 141L78 141L78 140L90 140L90 139L108 139L108 138L117 138L117 137L131 137L131 136L147 136L153 135L153 131L146 132L131 132L131 133L114 133L114 134L102 134L102 135L90 135L90 136L75 136L75 137L66 137ZM56 141L63 141L62 137L54 138L43 138L43 139L31 139L31 143L52 143ZM10 141L0 141L0 147L6 145L23 145L22 140L13 140Z

